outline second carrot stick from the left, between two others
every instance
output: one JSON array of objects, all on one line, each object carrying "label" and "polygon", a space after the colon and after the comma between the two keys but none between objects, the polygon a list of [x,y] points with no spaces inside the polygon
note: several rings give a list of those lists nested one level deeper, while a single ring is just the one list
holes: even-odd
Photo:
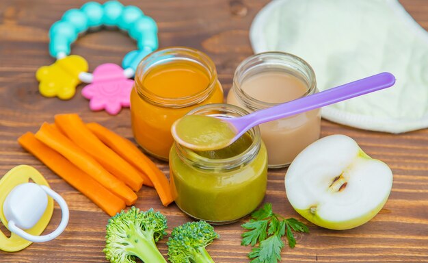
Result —
[{"label": "second carrot stick from the left, between two others", "polygon": [[42,124],[42,127],[36,133],[36,138],[63,155],[83,172],[88,173],[98,183],[113,192],[114,195],[123,199],[126,205],[132,205],[137,201],[137,195],[135,195],[135,192],[131,188],[126,186],[120,179],[111,175],[94,158],[77,147],[66,136],[53,129],[49,123]]}]

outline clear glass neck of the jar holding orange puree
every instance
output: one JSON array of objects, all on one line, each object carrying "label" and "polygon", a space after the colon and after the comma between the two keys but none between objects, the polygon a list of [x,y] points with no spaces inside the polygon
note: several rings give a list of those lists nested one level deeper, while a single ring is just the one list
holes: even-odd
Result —
[{"label": "clear glass neck of the jar holding orange puree", "polygon": [[[206,77],[208,77],[209,84],[204,89],[200,90],[200,92],[186,97],[174,98],[159,96],[144,86],[144,78],[153,68],[174,62],[198,64],[198,66],[202,68],[202,71],[204,71],[204,74],[206,74]],[[206,54],[189,47],[170,47],[159,49],[139,62],[137,70],[135,71],[134,88],[139,97],[154,105],[165,108],[186,108],[204,101],[211,95],[213,90],[215,90],[216,84],[217,71],[215,70],[215,64]]]}]

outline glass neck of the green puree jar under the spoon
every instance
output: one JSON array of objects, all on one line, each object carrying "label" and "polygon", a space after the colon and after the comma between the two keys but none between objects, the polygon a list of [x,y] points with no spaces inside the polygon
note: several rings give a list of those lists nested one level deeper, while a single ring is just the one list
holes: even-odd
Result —
[{"label": "glass neck of the green puree jar under the spoon", "polygon": [[[208,104],[193,109],[187,114],[202,114],[208,116],[236,118],[239,116],[245,116],[248,114],[248,112],[234,105]],[[252,143],[247,149],[243,150],[241,153],[235,156],[224,159],[206,158],[200,155],[198,152],[184,147],[177,142],[175,142],[174,145],[176,147],[176,153],[178,157],[188,166],[207,171],[229,171],[245,166],[246,164],[252,162],[252,160],[256,158],[256,155],[258,155],[261,146],[260,130],[258,127],[256,126],[250,129],[248,131],[248,136],[250,136]]]}]

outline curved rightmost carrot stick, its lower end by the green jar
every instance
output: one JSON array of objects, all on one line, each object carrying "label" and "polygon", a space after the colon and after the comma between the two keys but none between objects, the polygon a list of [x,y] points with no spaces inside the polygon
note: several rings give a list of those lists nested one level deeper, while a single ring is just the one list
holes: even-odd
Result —
[{"label": "curved rightmost carrot stick, its lower end by the green jar", "polygon": [[124,160],[133,164],[139,171],[150,178],[163,205],[168,206],[174,201],[168,178],[165,177],[162,171],[157,168],[156,164],[144,155],[144,153],[139,151],[130,140],[123,138],[98,123],[88,123],[86,126],[103,141],[105,145],[113,149],[113,151],[116,151]]}]

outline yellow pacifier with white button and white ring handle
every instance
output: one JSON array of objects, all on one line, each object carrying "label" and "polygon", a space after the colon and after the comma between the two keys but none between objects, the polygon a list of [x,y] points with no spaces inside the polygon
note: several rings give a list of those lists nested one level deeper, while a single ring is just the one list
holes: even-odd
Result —
[{"label": "yellow pacifier with white button and white ring handle", "polygon": [[[62,209],[62,221],[51,234],[39,236],[51,221],[53,200]],[[11,231],[10,238],[0,231],[0,250],[14,252],[32,242],[52,240],[64,231],[68,217],[64,199],[35,168],[16,166],[0,179],[0,221]]]}]

